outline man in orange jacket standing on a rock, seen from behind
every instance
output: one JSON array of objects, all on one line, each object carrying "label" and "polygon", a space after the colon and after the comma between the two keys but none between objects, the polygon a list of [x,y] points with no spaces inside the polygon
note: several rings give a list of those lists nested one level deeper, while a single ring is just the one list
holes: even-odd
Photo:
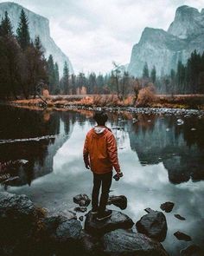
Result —
[{"label": "man in orange jacket standing on a rock, seen from behind", "polygon": [[97,220],[104,220],[112,215],[111,210],[105,209],[112,185],[112,167],[115,168],[118,177],[122,177],[123,173],[118,164],[116,139],[112,131],[105,127],[107,115],[99,111],[94,114],[93,119],[97,122],[97,126],[86,135],[83,155],[86,168],[91,167],[93,174],[92,214],[98,213]]}]

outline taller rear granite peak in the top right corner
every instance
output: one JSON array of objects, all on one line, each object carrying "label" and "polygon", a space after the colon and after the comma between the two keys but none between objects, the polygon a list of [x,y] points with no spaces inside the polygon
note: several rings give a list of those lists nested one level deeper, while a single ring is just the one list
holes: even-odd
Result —
[{"label": "taller rear granite peak in the top right corner", "polygon": [[168,32],[182,39],[203,33],[204,24],[201,12],[187,5],[177,8],[175,20],[170,24]]}]

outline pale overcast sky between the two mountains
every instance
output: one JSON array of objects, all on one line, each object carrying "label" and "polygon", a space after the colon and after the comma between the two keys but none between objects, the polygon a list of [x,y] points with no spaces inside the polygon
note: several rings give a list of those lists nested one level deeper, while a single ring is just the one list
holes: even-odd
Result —
[{"label": "pale overcast sky between the two mountains", "polygon": [[[5,2],[1,1],[0,2]],[[178,6],[199,10],[204,0],[16,0],[48,17],[51,36],[69,56],[75,73],[110,71],[130,62],[145,27],[168,30]]]}]

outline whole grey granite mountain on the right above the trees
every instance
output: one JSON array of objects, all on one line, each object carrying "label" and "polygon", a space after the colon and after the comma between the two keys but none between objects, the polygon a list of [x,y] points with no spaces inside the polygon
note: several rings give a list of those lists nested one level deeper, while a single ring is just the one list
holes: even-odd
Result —
[{"label": "whole grey granite mountain on the right above the trees", "polygon": [[177,8],[175,20],[169,30],[145,28],[139,43],[133,46],[128,71],[131,75],[143,74],[144,63],[149,69],[156,66],[156,74],[169,74],[176,69],[177,62],[187,62],[196,49],[204,51],[204,9],[183,5]]}]

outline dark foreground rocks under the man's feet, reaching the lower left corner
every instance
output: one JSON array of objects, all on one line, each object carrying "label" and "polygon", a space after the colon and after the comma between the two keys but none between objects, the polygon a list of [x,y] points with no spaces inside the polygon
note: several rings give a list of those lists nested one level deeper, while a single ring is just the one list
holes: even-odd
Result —
[{"label": "dark foreground rocks under the man's feet, reaching the lower left corner", "polygon": [[159,242],[133,232],[131,226],[123,213],[113,211],[112,218],[96,221],[90,212],[84,231],[75,213],[48,213],[25,195],[0,193],[1,256],[168,256]]}]

